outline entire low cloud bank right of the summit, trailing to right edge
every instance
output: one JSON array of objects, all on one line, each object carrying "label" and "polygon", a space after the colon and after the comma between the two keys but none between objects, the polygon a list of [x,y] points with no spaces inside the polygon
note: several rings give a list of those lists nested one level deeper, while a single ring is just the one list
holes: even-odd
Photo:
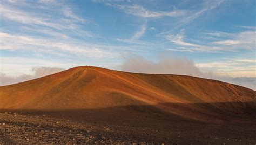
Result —
[{"label": "entire low cloud bank right of the summit, trailing to right edge", "polygon": [[202,72],[191,60],[169,56],[160,56],[159,61],[153,62],[142,57],[129,57],[120,65],[120,70],[136,73],[180,74],[195,77],[220,80],[256,90],[255,77],[220,76],[215,72]]}]

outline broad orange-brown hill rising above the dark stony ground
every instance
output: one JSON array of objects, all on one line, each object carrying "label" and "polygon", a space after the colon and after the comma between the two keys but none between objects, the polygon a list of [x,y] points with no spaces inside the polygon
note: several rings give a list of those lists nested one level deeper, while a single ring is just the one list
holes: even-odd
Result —
[{"label": "broad orange-brown hill rising above the dark stony ground", "polygon": [[0,87],[0,109],[99,109],[152,105],[197,120],[255,115],[255,91],[183,75],[81,66]]}]

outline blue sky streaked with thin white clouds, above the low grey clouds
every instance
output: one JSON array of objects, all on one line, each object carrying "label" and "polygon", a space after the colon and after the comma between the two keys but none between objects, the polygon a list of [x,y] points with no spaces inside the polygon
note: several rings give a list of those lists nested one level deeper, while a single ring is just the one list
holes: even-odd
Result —
[{"label": "blue sky streaked with thin white clouds, above the low grey clouds", "polygon": [[131,57],[159,63],[164,55],[203,73],[256,77],[253,0],[0,4],[1,75],[80,65],[122,70]]}]

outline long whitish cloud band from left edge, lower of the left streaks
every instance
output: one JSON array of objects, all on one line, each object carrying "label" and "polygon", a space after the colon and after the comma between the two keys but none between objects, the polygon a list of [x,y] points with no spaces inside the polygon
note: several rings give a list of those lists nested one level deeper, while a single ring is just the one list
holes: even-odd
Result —
[{"label": "long whitish cloud band from left edge, lower of the left streaks", "polygon": [[[34,52],[46,52],[52,54],[69,52],[77,56],[93,58],[114,57],[115,52],[104,50],[104,46],[87,44],[73,39],[59,40],[48,38],[36,38],[30,36],[19,36],[0,32],[0,45],[2,50],[26,50]],[[15,40],[15,43],[13,43]]]}]

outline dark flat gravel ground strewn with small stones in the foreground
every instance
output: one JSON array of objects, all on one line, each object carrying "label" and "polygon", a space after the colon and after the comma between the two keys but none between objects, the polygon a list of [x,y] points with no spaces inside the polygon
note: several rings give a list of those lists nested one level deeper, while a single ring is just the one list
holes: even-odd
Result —
[{"label": "dark flat gravel ground strewn with small stones in the foreground", "polygon": [[256,144],[255,126],[246,128],[182,121],[175,124],[169,120],[169,125],[165,120],[150,120],[156,122],[151,125],[142,121],[129,124],[130,121],[82,120],[49,114],[2,112],[0,143]]}]

